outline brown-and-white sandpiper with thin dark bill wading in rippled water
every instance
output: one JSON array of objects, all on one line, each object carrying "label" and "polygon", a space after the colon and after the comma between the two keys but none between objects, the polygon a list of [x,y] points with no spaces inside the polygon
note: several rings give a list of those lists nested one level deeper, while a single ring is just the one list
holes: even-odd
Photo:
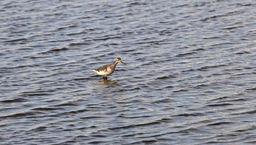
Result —
[{"label": "brown-and-white sandpiper with thin dark bill wading in rippled water", "polygon": [[[118,62],[122,62],[120,57],[116,57],[115,61],[113,63],[106,64],[99,68],[91,69],[91,70],[95,71],[98,75],[103,76],[103,78],[107,78],[107,75],[110,75],[115,71],[115,68],[116,68],[116,65],[118,64]],[[123,64],[125,64],[125,63],[123,63]]]}]

